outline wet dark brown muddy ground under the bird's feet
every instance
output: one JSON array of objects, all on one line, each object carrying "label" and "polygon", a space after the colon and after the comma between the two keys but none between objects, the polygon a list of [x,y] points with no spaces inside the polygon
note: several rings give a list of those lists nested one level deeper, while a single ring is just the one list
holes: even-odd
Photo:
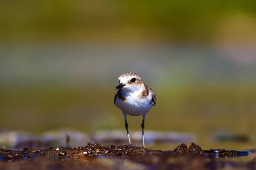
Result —
[{"label": "wet dark brown muddy ground under the bird's feet", "polygon": [[172,151],[150,150],[141,147],[121,145],[103,146],[88,143],[85,147],[49,147],[45,150],[0,149],[0,170],[158,170],[158,169],[256,169],[256,161],[232,161],[238,156],[248,156],[248,152],[236,150],[203,150],[195,143],[181,144]]}]

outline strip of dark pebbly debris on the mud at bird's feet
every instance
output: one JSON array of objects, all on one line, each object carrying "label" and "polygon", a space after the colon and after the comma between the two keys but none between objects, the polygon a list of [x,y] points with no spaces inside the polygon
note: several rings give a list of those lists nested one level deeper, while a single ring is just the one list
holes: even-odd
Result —
[{"label": "strip of dark pebbly debris on the mud at bird's feet", "polygon": [[88,143],[85,147],[49,147],[48,149],[38,150],[24,147],[23,150],[4,150],[0,149],[0,160],[23,160],[35,157],[47,159],[78,159],[82,157],[131,157],[146,154],[168,153],[169,155],[184,155],[189,153],[200,154],[204,156],[246,156],[248,152],[239,152],[236,150],[203,150],[200,146],[192,143],[189,148],[186,144],[181,144],[173,151],[161,151],[143,149],[132,145],[103,146],[100,143]]}]

